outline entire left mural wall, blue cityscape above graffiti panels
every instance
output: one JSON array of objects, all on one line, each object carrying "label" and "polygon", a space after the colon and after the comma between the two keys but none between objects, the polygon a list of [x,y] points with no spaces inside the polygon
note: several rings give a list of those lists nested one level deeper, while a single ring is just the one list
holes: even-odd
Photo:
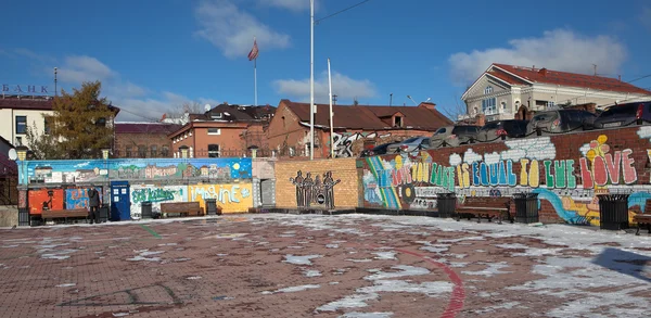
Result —
[{"label": "entire left mural wall, blue cityscape above graffiti panels", "polygon": [[[260,162],[258,166],[256,173],[260,176],[273,176],[272,164]],[[259,190],[252,186],[252,160],[240,157],[26,161],[18,162],[18,168],[23,187],[20,204],[28,206],[30,214],[40,214],[46,203],[50,209],[88,207],[90,186],[97,186],[103,196],[102,188],[107,191],[104,186],[114,180],[131,183],[130,213],[135,219],[140,217],[144,201],[159,209],[162,202],[186,202],[191,198],[202,207],[204,198],[216,198],[225,213],[247,212],[254,206],[253,192]],[[228,192],[226,196],[222,190]]]}]

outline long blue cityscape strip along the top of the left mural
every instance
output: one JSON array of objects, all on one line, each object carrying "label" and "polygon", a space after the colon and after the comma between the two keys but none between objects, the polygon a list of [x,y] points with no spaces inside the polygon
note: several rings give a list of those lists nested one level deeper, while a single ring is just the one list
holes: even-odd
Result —
[{"label": "long blue cityscape strip along the top of the left mural", "polygon": [[20,165],[21,185],[90,183],[111,180],[232,181],[252,178],[251,158],[129,158],[28,161]]}]

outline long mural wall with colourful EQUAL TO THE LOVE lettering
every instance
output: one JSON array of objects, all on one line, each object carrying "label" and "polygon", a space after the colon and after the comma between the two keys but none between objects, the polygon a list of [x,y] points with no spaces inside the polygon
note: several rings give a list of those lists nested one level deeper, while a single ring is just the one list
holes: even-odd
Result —
[{"label": "long mural wall with colourful EQUAL TO THE LOVE lettering", "polygon": [[597,195],[628,193],[629,215],[651,199],[651,127],[513,139],[362,160],[367,207],[435,208],[436,194],[538,193],[541,217],[599,225]]}]

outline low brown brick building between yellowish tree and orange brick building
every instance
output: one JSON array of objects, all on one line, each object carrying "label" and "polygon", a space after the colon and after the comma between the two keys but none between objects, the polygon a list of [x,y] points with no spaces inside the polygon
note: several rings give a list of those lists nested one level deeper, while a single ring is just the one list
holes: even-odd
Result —
[{"label": "low brown brick building between yellowish tree and orange brick building", "polygon": [[167,137],[181,126],[164,123],[115,123],[113,157],[171,157]]}]

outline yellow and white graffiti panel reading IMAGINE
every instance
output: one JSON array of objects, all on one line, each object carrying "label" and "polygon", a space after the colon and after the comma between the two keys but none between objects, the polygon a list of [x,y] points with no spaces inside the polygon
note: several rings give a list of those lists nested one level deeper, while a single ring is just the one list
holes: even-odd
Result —
[{"label": "yellow and white graffiti panel reading IMAGINE", "polygon": [[252,183],[188,186],[188,201],[199,201],[205,211],[206,199],[217,199],[222,213],[246,213],[253,207]]}]

